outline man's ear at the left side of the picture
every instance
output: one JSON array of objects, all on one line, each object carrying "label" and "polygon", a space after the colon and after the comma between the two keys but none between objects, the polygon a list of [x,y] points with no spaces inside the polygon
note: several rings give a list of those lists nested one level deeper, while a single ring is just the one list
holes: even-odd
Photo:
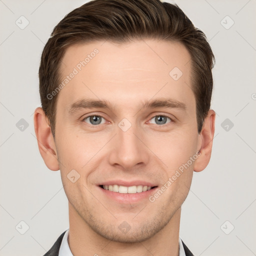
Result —
[{"label": "man's ear at the left side of the picture", "polygon": [[34,110],[34,131],[40,154],[50,170],[58,170],[57,150],[48,118],[41,107]]}]

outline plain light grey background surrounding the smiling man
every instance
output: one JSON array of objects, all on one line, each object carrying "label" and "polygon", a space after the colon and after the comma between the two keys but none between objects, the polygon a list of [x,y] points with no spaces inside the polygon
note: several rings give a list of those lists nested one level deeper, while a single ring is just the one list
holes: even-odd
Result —
[{"label": "plain light grey background surrounding the smiling man", "polygon": [[[33,111],[42,48],[58,21],[84,2],[0,0],[0,255],[42,255],[68,228],[60,173],[39,154]],[[195,255],[256,255],[256,0],[175,2],[204,31],[216,58],[211,161],[194,173],[180,237]],[[15,23],[21,15],[29,21],[24,29]],[[28,123],[23,131],[16,126],[21,118]]]}]

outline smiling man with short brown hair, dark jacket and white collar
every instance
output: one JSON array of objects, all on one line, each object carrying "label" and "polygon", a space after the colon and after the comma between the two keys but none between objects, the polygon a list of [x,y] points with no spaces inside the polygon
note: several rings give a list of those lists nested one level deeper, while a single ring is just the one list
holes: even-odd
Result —
[{"label": "smiling man with short brown hair, dark jacket and white collar", "polygon": [[203,32],[159,0],[94,0],[56,25],[34,126],[69,229],[45,255],[192,255],[180,212],[210,159],[213,64]]}]

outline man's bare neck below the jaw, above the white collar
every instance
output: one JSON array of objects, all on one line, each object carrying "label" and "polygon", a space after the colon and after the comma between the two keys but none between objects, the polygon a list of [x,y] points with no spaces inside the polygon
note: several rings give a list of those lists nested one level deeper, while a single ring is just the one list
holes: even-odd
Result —
[{"label": "man's bare neck below the jaw, above the white collar", "polygon": [[108,240],[92,230],[68,203],[69,234],[68,244],[74,256],[87,255],[166,255],[178,256],[179,222],[181,208],[169,222],[150,238],[135,243],[121,243]]}]

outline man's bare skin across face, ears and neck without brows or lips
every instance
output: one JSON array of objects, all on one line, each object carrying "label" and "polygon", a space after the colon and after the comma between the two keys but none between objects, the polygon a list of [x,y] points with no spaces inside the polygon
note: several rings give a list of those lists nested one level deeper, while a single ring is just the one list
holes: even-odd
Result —
[{"label": "man's bare skin across face, ears and neck without brows or lips", "polygon": [[[190,55],[179,42],[136,40],[125,44],[96,41],[67,48],[63,78],[97,48],[90,59],[57,95],[55,138],[40,107],[34,126],[40,154],[51,170],[60,169],[68,198],[69,247],[78,255],[178,255],[181,205],[193,171],[210,159],[215,113],[209,110],[198,134],[195,97],[191,90]],[[169,72],[182,71],[178,80]],[[113,109],[68,107],[77,100],[108,100]],[[180,108],[141,108],[141,102],[171,98]],[[89,124],[89,115],[103,118]],[[155,117],[165,115],[164,124]],[[127,131],[118,123],[126,118]],[[200,151],[192,164],[154,202],[117,203],[97,184],[110,179],[146,180],[159,188],[180,165]],[[67,178],[75,169],[80,178]],[[126,221],[124,233],[118,225]]]}]

